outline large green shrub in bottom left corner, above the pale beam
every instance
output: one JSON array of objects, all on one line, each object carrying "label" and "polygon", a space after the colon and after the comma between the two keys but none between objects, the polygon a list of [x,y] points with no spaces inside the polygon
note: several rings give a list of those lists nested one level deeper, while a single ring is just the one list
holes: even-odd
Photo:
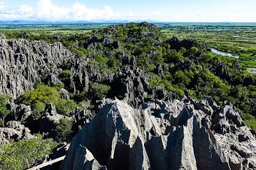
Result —
[{"label": "large green shrub in bottom left corner, above the pale beam", "polygon": [[43,139],[37,136],[33,139],[20,140],[2,145],[0,148],[0,169],[28,169],[51,154],[57,143],[52,139]]}]

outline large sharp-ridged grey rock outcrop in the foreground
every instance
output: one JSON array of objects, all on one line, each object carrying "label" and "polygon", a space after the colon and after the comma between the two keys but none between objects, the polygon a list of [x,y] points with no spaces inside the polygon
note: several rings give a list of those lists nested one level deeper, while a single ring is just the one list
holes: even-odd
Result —
[{"label": "large sharp-ridged grey rock outcrop in the foreground", "polygon": [[73,139],[61,169],[255,169],[255,134],[231,103],[106,105]]}]

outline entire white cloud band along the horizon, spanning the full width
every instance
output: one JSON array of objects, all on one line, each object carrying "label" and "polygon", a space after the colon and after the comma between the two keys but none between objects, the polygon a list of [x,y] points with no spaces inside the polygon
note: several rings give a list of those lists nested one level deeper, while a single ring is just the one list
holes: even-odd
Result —
[{"label": "entire white cloud band along the horizon, spanning the full width", "polygon": [[36,8],[28,4],[12,8],[0,0],[0,20],[47,20],[47,21],[106,21],[106,20],[154,20],[161,22],[256,22],[256,13],[252,14],[220,14],[220,13],[182,13],[164,14],[153,10],[147,15],[136,15],[136,11],[120,13],[111,6],[90,8],[76,1],[69,7],[53,4],[51,0],[39,0]]}]

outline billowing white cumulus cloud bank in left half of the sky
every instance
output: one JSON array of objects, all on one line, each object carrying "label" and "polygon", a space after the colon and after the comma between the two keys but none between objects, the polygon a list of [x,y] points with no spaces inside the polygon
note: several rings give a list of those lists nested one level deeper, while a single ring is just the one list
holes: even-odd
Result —
[{"label": "billowing white cumulus cloud bank in left half of the sky", "polygon": [[0,2],[1,20],[115,20],[120,17],[121,14],[113,11],[110,6],[98,10],[88,8],[78,1],[69,8],[63,8],[52,4],[51,0],[40,0],[36,9],[26,4],[12,9]]}]

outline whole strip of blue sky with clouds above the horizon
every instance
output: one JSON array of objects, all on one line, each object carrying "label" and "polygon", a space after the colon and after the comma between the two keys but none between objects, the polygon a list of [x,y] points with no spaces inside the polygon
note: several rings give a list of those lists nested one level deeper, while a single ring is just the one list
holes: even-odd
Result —
[{"label": "whole strip of blue sky with clouds above the horizon", "polygon": [[0,20],[256,22],[256,1],[0,0]]}]

